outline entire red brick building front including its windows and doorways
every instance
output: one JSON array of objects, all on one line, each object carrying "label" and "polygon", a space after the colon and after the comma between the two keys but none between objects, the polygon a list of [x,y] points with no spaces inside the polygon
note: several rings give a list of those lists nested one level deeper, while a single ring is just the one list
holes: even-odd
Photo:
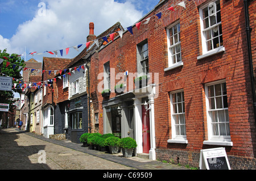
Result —
[{"label": "entire red brick building front including its windows and doorways", "polygon": [[[185,8],[160,1],[139,20],[139,30],[134,25],[133,34],[125,31],[90,57],[99,131],[134,137],[137,152],[150,159],[198,166],[201,149],[224,147],[232,169],[255,169],[243,2],[184,2]],[[253,60],[255,6],[250,1]],[[148,82],[137,89],[134,79],[141,75]],[[114,91],[120,83],[121,94]]]}]

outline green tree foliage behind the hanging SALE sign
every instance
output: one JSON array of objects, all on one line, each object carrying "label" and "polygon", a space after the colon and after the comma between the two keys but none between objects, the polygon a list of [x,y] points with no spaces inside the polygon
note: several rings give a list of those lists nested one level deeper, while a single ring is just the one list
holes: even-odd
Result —
[{"label": "green tree foliage behind the hanging SALE sign", "polygon": [[[6,57],[8,60],[6,60],[4,57]],[[22,81],[22,75],[20,74],[19,66],[22,66],[23,68],[25,67],[26,64],[24,64],[24,60],[20,58],[18,54],[7,53],[6,49],[0,50],[0,58],[4,60],[2,64],[0,64],[0,72],[9,77],[13,77],[13,83],[19,83],[19,81],[16,81],[16,79]],[[7,62],[10,62],[10,65],[6,67]],[[13,64],[16,65],[15,68],[13,67]],[[21,93],[22,89],[13,89],[13,91]],[[0,103],[10,104],[10,111],[13,110],[13,103],[15,102],[15,100],[13,100],[13,91],[0,91]]]}]

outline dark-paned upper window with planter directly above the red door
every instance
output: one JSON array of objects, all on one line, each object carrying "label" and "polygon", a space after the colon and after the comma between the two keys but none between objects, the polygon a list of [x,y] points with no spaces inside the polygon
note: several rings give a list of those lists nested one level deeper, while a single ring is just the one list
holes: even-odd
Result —
[{"label": "dark-paned upper window with planter directly above the red door", "polygon": [[148,74],[148,44],[147,41],[137,45],[137,58],[138,58],[138,73],[139,74]]}]

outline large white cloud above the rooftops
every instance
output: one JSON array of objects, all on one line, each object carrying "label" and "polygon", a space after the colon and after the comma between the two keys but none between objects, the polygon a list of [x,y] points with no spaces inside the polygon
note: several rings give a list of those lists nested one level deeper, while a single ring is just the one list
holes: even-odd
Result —
[{"label": "large white cloud above the rooftops", "polygon": [[[138,11],[130,1],[45,0],[44,3],[47,7],[45,15],[39,16],[35,12],[32,20],[19,24],[10,40],[0,35],[0,49],[7,48],[9,53],[18,54],[24,52],[25,46],[27,52],[59,50],[85,43],[89,22],[94,22],[94,34],[100,35],[116,22],[121,22],[123,28],[126,28],[142,18],[142,11]],[[69,58],[77,54],[76,50],[70,52]],[[44,53],[43,56],[51,55]]]}]

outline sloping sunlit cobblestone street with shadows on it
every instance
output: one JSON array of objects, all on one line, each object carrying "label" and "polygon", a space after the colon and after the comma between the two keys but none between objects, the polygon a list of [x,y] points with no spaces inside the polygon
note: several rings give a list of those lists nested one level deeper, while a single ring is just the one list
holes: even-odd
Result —
[{"label": "sloping sunlit cobblestone street with shadows on it", "polygon": [[[46,157],[43,157],[44,154]],[[52,140],[35,133],[19,131],[17,128],[0,129],[0,170],[5,169],[187,170],[146,158],[124,158],[121,154],[90,150],[82,147],[82,144]]]}]

